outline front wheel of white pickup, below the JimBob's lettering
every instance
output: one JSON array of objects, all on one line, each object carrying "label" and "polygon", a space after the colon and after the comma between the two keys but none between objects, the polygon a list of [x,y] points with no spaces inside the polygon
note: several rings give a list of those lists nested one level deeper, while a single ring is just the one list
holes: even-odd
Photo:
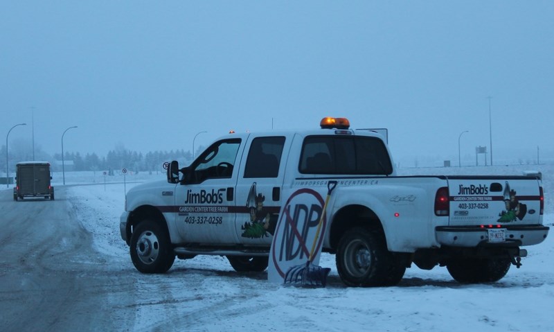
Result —
[{"label": "front wheel of white pickup, below the JimBob's lettering", "polygon": [[142,273],[165,273],[175,261],[168,232],[152,220],[133,229],[129,250],[134,267]]}]

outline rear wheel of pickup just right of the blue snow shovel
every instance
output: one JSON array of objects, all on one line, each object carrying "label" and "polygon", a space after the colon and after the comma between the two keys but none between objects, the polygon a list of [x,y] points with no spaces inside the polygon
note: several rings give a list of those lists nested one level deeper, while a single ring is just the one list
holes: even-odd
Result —
[{"label": "rear wheel of pickup just right of the blue snow shovel", "polygon": [[339,276],[346,286],[372,287],[395,284],[402,279],[397,271],[395,277],[387,280],[391,256],[381,234],[356,227],[342,236],[335,259]]}]

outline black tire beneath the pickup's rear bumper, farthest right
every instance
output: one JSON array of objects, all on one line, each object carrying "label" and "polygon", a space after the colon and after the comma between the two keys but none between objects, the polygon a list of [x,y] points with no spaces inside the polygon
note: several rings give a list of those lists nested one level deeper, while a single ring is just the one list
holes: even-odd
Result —
[{"label": "black tire beneath the pickup's rear bumper, farthest right", "polygon": [[510,265],[510,259],[455,259],[447,270],[459,283],[488,283],[502,279]]}]

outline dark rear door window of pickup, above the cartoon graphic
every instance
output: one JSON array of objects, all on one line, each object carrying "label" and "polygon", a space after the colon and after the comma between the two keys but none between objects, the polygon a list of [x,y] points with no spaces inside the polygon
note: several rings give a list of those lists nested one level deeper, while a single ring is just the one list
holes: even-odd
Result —
[{"label": "dark rear door window of pickup, above the cartoon graphic", "polygon": [[248,152],[244,177],[277,177],[285,137],[256,137]]}]

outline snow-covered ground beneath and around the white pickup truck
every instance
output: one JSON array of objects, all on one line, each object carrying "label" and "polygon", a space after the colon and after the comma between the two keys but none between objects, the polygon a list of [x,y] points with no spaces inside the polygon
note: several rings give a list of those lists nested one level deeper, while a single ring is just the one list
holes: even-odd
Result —
[{"label": "snow-covered ground beneath and around the white pickup truck", "polygon": [[[543,173],[544,223],[552,226],[554,183],[549,177],[554,166],[413,168],[400,175],[514,175],[531,169]],[[107,264],[134,273],[118,229],[124,193],[136,182],[163,176],[127,175],[123,184],[123,175],[115,175],[106,177],[104,184],[98,174],[66,173],[68,185],[93,183],[68,186],[67,196]],[[61,178],[54,177],[54,182]],[[159,302],[136,304],[136,320],[129,330],[163,329],[166,317],[177,315],[181,318],[172,319],[172,327],[186,331],[547,331],[554,326],[554,243],[547,238],[527,249],[524,265],[512,266],[497,283],[460,285],[445,268],[425,271],[414,266],[391,288],[345,288],[334,256],[325,254],[320,265],[332,271],[328,287],[320,289],[278,286],[267,282],[265,273],[240,275],[219,256],[177,260],[168,274],[139,274],[137,293],[171,288],[171,296],[166,291],[168,298]]]}]

